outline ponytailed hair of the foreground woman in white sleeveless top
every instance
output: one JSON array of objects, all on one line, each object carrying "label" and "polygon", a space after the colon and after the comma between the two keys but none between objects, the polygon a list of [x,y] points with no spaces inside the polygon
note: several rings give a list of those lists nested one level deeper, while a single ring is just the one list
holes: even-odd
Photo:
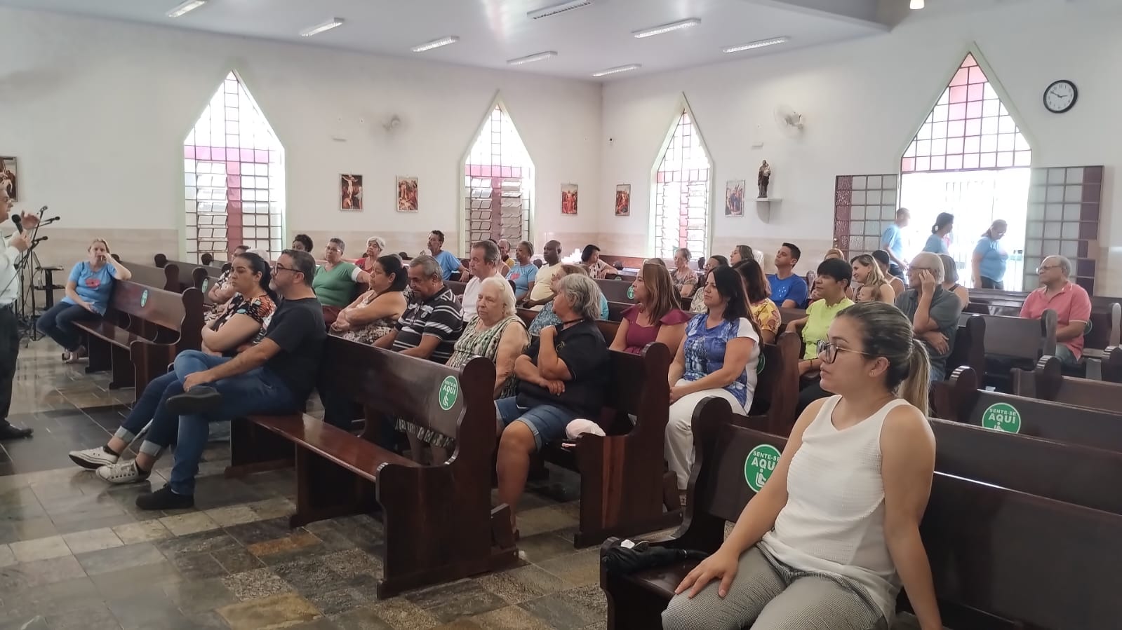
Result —
[{"label": "ponytailed hair of the foreground woman in white sleeveless top", "polygon": [[923,343],[912,333],[908,316],[883,302],[859,302],[837,316],[849,317],[857,324],[866,356],[883,356],[889,362],[884,387],[926,416],[930,360]]}]

